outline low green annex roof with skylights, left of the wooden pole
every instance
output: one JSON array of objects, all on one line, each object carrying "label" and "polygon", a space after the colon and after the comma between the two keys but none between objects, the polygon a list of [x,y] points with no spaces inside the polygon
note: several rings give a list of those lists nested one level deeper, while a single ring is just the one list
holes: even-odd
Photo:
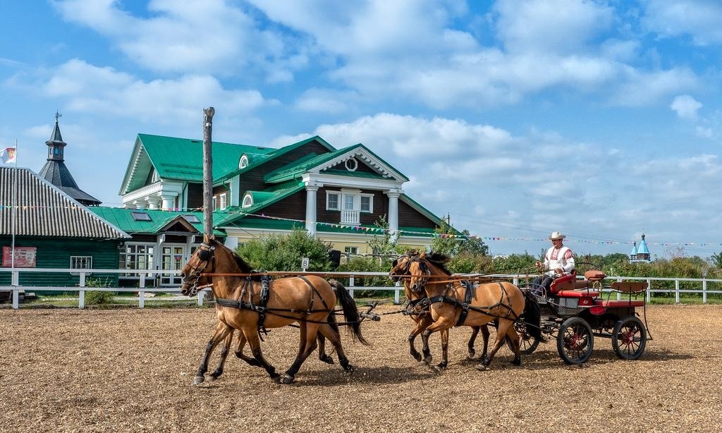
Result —
[{"label": "low green annex roof with skylights, left of the wooden pole", "polygon": [[[125,209],[125,208],[113,208],[103,206],[89,206],[88,210],[95,213],[97,216],[105,219],[106,221],[114,224],[116,227],[123,230],[123,232],[130,234],[150,234],[156,235],[160,232],[160,229],[165,227],[166,224],[183,215],[194,215],[199,219],[199,222],[191,224],[199,234],[203,233],[203,212],[183,212],[183,211],[162,211],[160,209]],[[151,221],[136,221],[133,218],[132,213],[143,213],[150,216]],[[222,215],[214,212],[213,220],[221,220]],[[215,225],[215,224],[214,224]],[[225,232],[214,229],[213,234],[216,236],[224,236]]]}]

